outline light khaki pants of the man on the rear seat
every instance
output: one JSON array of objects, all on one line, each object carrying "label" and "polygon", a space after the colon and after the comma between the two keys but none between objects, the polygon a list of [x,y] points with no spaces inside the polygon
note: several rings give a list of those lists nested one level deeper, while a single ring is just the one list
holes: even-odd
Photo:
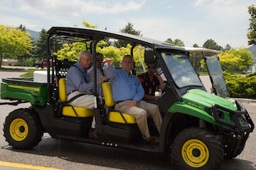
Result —
[{"label": "light khaki pants of the man on the rear seat", "polygon": [[[76,95],[82,94],[82,92],[75,91],[67,96],[67,101],[75,97]],[[75,107],[79,108],[86,108],[88,110],[92,110],[94,108],[94,95],[82,95],[78,97],[77,99],[74,99],[69,103],[70,105],[73,105]],[[92,128],[95,128],[96,121],[95,116],[92,120]]]}]

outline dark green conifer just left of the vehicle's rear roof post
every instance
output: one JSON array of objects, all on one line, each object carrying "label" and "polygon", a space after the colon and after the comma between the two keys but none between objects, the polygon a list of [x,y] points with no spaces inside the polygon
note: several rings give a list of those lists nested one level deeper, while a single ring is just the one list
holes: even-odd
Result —
[{"label": "dark green conifer just left of the vehicle's rear roof post", "polygon": [[39,33],[39,39],[36,41],[35,43],[35,49],[32,52],[34,54],[35,58],[38,59],[44,59],[47,56],[47,44],[46,44],[46,40],[47,40],[47,32],[46,30],[44,30],[44,28],[42,28],[41,32]]}]

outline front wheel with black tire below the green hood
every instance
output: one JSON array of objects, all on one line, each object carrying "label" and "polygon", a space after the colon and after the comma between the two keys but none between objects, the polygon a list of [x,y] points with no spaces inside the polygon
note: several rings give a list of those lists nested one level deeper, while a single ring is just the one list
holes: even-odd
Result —
[{"label": "front wheel with black tire below the green hood", "polygon": [[216,135],[192,127],[183,130],[174,139],[172,157],[179,169],[218,169],[224,151]]}]

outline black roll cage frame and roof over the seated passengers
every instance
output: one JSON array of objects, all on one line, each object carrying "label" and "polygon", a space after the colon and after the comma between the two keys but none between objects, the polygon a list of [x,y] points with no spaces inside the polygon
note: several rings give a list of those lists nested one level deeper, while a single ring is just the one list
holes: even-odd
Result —
[{"label": "black roll cage frame and roof over the seated passengers", "polygon": [[[152,48],[154,50],[155,56],[156,56],[156,60],[157,62],[160,64],[161,68],[163,69],[166,78],[168,80],[168,85],[171,87],[171,89],[174,91],[175,93],[175,98],[177,99],[177,101],[183,101],[181,98],[181,95],[183,95],[184,93],[187,92],[187,90],[194,88],[194,87],[185,87],[185,88],[178,88],[170,73],[168,72],[168,68],[163,60],[163,58],[161,57],[160,54],[160,50],[165,50],[165,51],[175,51],[175,52],[181,52],[181,53],[185,53],[189,56],[189,52],[187,50],[185,50],[185,48],[180,47],[180,46],[175,46],[173,44],[169,44],[166,42],[160,42],[157,40],[151,40],[148,38],[143,38],[141,36],[135,36],[132,34],[125,34],[125,33],[121,33],[121,32],[110,32],[107,30],[98,30],[95,28],[77,28],[77,27],[53,27],[48,31],[48,38],[47,38],[47,71],[48,71],[48,75],[50,75],[50,64],[49,64],[49,60],[52,58],[53,59],[53,68],[52,68],[52,75],[54,74],[54,70],[56,68],[56,60],[57,58],[53,56],[53,39],[59,39],[59,40],[73,40],[72,38],[83,38],[84,40],[73,40],[74,42],[90,42],[90,46],[86,46],[86,50],[90,50],[90,52],[92,53],[92,57],[93,57],[93,65],[96,65],[96,44],[100,41],[103,40],[104,38],[112,38],[112,39],[117,39],[117,40],[125,40],[127,42],[131,42],[131,56],[133,56],[133,49],[135,48],[135,46],[137,45],[141,45],[144,46],[146,48]],[[133,67],[132,70],[133,74],[135,75],[135,66]],[[51,77],[48,76],[48,83],[47,86],[49,88],[48,91],[48,96],[49,96],[49,103],[53,103],[53,89],[55,88],[53,83],[56,81],[54,76]],[[197,87],[195,87],[197,88]],[[204,87],[202,87],[201,89],[205,90]],[[55,88],[56,90],[56,88]],[[94,67],[94,96],[96,97],[97,101],[98,101],[98,95],[96,94],[96,67]]]}]

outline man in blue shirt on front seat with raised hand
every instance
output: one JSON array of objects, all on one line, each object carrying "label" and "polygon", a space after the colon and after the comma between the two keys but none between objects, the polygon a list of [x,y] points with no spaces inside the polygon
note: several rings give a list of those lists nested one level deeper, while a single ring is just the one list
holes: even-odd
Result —
[{"label": "man in blue shirt on front seat with raised hand", "polygon": [[[106,58],[104,62],[108,62]],[[130,73],[133,67],[133,57],[126,55],[122,60],[122,69],[113,68],[112,74],[108,74],[113,91],[113,99],[116,102],[115,110],[124,114],[130,114],[136,119],[142,138],[151,143],[158,143],[157,136],[150,136],[148,128],[148,117],[153,118],[154,124],[160,133],[162,117],[158,106],[146,101],[141,101],[144,96],[143,87],[135,75]],[[112,65],[113,62],[108,62]]]}]

